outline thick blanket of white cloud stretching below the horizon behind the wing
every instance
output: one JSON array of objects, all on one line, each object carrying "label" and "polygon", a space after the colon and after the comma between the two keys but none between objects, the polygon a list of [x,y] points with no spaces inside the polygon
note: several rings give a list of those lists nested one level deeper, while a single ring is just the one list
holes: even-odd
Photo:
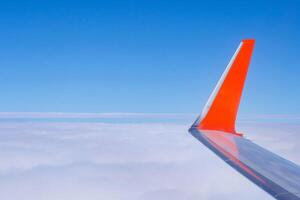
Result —
[{"label": "thick blanket of white cloud stretching below the horizon behind the wing", "polygon": [[[2,122],[0,196],[7,200],[272,199],[189,135],[188,126]],[[240,125],[257,143],[299,161],[294,150],[299,148],[295,138],[300,127],[278,126],[277,132],[274,126],[263,127]],[[281,143],[286,132],[291,139]]]}]

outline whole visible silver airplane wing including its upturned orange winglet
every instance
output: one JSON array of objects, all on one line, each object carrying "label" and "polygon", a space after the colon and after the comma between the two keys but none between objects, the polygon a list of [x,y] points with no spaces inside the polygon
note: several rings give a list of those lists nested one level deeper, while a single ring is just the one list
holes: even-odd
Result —
[{"label": "whole visible silver airplane wing including its upturned orange winglet", "polygon": [[278,200],[300,200],[300,166],[246,139],[235,121],[255,41],[243,40],[189,132]]}]

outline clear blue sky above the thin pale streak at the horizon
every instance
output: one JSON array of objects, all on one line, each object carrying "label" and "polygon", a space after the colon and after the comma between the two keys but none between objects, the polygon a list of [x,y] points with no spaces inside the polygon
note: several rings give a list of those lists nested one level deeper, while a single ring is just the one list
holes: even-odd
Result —
[{"label": "clear blue sky above the thin pale streak at the horizon", "polygon": [[300,4],[2,1],[1,112],[200,112],[255,38],[241,114],[300,113]]}]

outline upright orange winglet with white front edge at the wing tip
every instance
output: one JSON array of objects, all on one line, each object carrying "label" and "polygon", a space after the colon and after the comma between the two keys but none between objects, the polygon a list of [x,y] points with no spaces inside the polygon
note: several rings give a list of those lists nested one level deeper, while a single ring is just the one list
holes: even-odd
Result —
[{"label": "upright orange winglet with white front edge at the wing tip", "polygon": [[235,121],[255,40],[243,40],[210,96],[197,127],[236,133]]}]

